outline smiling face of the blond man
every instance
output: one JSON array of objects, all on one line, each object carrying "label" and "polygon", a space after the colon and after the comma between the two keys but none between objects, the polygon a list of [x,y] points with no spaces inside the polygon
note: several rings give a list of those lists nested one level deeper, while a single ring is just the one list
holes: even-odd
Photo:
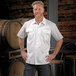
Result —
[{"label": "smiling face of the blond man", "polygon": [[44,8],[40,4],[35,4],[33,6],[33,13],[36,18],[43,16]]}]

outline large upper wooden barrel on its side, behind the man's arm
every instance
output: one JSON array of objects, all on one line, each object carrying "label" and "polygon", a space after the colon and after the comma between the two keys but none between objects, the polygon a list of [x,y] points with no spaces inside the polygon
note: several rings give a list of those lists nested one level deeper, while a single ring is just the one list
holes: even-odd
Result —
[{"label": "large upper wooden barrel on its side, behind the man's arm", "polygon": [[0,20],[0,44],[3,48],[7,45],[13,49],[19,48],[17,33],[21,26],[16,20]]}]

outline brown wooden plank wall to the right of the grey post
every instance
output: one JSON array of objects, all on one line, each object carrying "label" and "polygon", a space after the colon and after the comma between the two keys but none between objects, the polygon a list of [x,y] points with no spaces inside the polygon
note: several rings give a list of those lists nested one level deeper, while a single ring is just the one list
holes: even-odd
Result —
[{"label": "brown wooden plank wall to the right of the grey post", "polygon": [[76,0],[58,0],[58,27],[64,42],[76,42]]}]

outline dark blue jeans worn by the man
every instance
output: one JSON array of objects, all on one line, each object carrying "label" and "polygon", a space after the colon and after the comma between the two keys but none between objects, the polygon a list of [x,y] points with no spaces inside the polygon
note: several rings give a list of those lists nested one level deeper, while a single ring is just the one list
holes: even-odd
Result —
[{"label": "dark blue jeans worn by the man", "polygon": [[24,76],[35,76],[35,73],[38,73],[38,76],[50,76],[50,65],[31,65],[25,64],[24,67]]}]

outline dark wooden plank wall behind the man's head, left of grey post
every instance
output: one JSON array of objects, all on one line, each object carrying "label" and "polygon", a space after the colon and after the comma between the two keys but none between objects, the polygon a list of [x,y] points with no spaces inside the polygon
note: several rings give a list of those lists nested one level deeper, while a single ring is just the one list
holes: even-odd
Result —
[{"label": "dark wooden plank wall behind the man's head, left of grey post", "polygon": [[[9,0],[9,18],[33,18],[33,11],[31,4],[34,0]],[[45,4],[45,17],[47,17],[47,2]]]}]

